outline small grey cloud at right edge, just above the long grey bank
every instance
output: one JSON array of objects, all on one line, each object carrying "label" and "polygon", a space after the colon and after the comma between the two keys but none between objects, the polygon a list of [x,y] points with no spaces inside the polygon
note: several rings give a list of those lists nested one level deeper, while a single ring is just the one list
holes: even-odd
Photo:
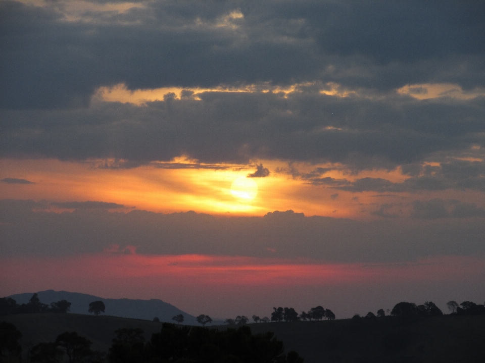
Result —
[{"label": "small grey cloud at right edge, just above the long grey bank", "polygon": [[417,219],[485,217],[485,209],[456,199],[415,200],[412,208],[411,216]]}]

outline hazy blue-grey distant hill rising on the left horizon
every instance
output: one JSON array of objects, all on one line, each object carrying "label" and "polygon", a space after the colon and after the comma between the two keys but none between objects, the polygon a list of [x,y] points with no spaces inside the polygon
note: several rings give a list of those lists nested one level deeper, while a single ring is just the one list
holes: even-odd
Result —
[{"label": "hazy blue-grey distant hill rising on the left horizon", "polygon": [[[106,315],[121,318],[153,320],[158,317],[161,322],[173,323],[172,318],[182,314],[185,318],[185,325],[199,325],[196,317],[183,312],[177,307],[164,302],[160,299],[138,300],[138,299],[104,299],[99,296],[81,294],[79,292],[46,290],[37,292],[39,299],[44,304],[53,301],[67,300],[72,303],[71,313],[88,315],[88,306],[92,301],[103,301],[106,306]],[[18,304],[27,303],[32,297],[33,292],[11,295],[9,297],[17,301]],[[216,322],[214,322],[216,323]],[[219,322],[221,323],[221,322]]]}]

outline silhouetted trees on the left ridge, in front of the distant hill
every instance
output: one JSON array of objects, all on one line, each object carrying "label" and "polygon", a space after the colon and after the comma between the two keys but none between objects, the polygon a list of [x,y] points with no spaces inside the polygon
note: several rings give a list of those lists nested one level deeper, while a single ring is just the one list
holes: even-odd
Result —
[{"label": "silhouetted trees on the left ridge, in front of the distant hill", "polygon": [[[71,303],[67,300],[51,302],[50,305],[40,302],[37,293],[34,293],[28,303],[18,304],[11,297],[0,298],[0,316],[10,314],[36,314],[36,313],[69,313]],[[104,313],[106,306],[103,301],[89,303],[88,312],[94,315]]]}]

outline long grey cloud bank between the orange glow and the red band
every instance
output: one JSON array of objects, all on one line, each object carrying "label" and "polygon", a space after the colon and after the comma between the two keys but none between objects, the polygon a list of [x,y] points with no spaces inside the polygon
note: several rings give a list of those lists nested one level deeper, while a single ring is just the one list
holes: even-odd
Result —
[{"label": "long grey cloud bank between the orange glow and the red band", "polygon": [[[426,204],[422,205],[416,203],[415,213],[428,218]],[[462,207],[456,204],[451,213],[460,213],[457,209]],[[469,207],[465,205],[468,211]],[[485,252],[482,219],[359,222],[305,217],[292,211],[216,218],[195,212],[125,214],[87,209],[57,214],[42,208],[45,203],[32,200],[0,201],[1,255],[95,253],[114,244],[120,250],[136,246],[137,253],[308,257],[334,262],[399,262]]]}]

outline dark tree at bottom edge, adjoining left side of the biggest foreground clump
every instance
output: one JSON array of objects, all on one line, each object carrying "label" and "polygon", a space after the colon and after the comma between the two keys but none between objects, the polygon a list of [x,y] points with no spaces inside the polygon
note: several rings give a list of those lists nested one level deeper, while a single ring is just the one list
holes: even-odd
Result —
[{"label": "dark tree at bottom edge, adjoining left side of the biggest foreground clump", "polygon": [[124,328],[115,330],[116,338],[109,350],[110,363],[141,363],[144,361],[145,337],[143,330]]}]

